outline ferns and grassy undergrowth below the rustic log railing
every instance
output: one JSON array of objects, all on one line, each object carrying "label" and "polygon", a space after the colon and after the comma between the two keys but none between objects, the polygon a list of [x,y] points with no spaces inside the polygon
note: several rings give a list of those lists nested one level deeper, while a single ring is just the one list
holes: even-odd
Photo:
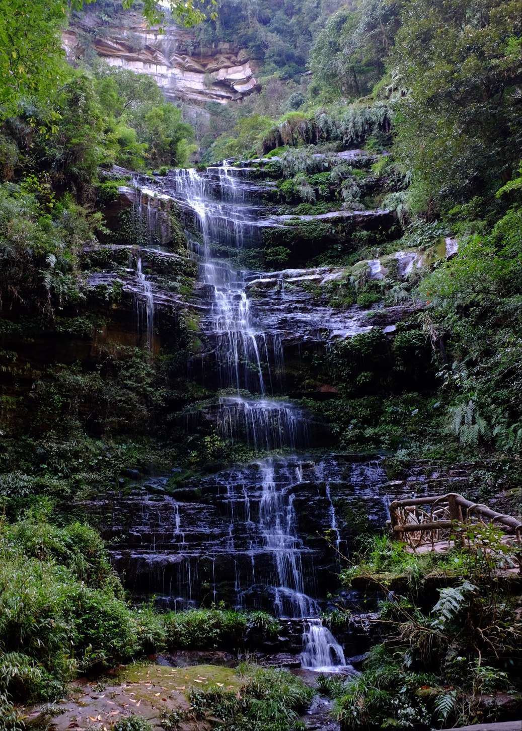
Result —
[{"label": "ferns and grassy undergrowth below the rustic log railing", "polygon": [[[461,546],[448,553],[405,548],[385,537],[366,539],[343,572],[345,586],[363,580],[393,591],[380,605],[381,642],[363,672],[320,681],[336,699],[342,727],[473,724],[495,713],[497,692],[514,696],[516,713],[519,597],[497,578],[515,551],[492,526],[464,531]],[[437,588],[441,583],[449,586]]]}]

